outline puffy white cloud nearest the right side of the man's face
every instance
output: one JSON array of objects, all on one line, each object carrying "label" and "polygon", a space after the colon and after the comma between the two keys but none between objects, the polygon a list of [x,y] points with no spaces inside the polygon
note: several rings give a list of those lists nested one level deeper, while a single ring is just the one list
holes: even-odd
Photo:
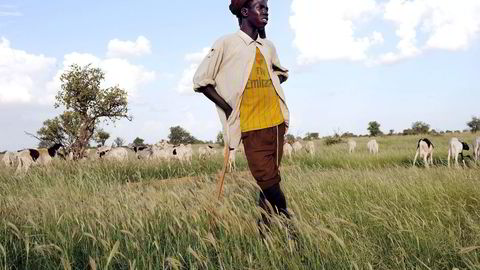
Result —
[{"label": "puffy white cloud nearest the right side of the man's face", "polygon": [[293,0],[290,25],[300,51],[298,63],[366,59],[367,50],[383,37],[379,32],[357,37],[355,24],[377,10],[374,0]]}]

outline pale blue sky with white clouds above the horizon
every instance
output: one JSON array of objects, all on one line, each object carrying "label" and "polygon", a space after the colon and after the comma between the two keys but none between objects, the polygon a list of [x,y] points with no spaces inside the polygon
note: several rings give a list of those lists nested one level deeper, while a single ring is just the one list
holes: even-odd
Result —
[{"label": "pale blue sky with white clouds above the horizon", "polygon": [[[267,35],[290,77],[289,132],[396,132],[423,121],[463,130],[480,116],[480,0],[269,1]],[[100,67],[129,95],[133,120],[103,127],[126,142],[180,125],[214,140],[214,105],[193,93],[210,46],[236,32],[228,0],[0,0],[0,151],[35,147],[73,64]]]}]

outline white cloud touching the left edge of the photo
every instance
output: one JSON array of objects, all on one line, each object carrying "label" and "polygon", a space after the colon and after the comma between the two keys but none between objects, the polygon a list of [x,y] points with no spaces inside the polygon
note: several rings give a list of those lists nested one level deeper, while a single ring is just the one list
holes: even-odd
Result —
[{"label": "white cloud touching the left edge of the photo", "polygon": [[14,49],[0,41],[0,103],[31,102],[55,65],[55,58]]}]

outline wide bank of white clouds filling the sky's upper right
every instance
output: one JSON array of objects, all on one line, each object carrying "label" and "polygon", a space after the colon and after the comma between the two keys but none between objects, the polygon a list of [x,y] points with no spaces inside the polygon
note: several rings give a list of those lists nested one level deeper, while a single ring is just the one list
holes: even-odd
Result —
[{"label": "wide bank of white clouds filling the sky's upper right", "polygon": [[[293,0],[292,12],[299,64],[336,59],[389,64],[429,49],[466,49],[480,32],[478,0]],[[368,19],[377,20],[368,25]],[[358,26],[372,27],[378,20],[393,23],[398,41],[395,49],[372,55],[369,50],[384,44],[386,35],[362,36]]]}]

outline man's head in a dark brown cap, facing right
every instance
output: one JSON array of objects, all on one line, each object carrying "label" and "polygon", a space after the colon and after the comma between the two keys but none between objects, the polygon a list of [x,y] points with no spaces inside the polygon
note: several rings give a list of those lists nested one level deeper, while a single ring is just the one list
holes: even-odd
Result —
[{"label": "man's head in a dark brown cap, facing right", "polygon": [[265,26],[268,23],[268,0],[231,0],[230,11],[237,16],[240,26],[248,23],[258,29],[261,38],[265,38]]}]

